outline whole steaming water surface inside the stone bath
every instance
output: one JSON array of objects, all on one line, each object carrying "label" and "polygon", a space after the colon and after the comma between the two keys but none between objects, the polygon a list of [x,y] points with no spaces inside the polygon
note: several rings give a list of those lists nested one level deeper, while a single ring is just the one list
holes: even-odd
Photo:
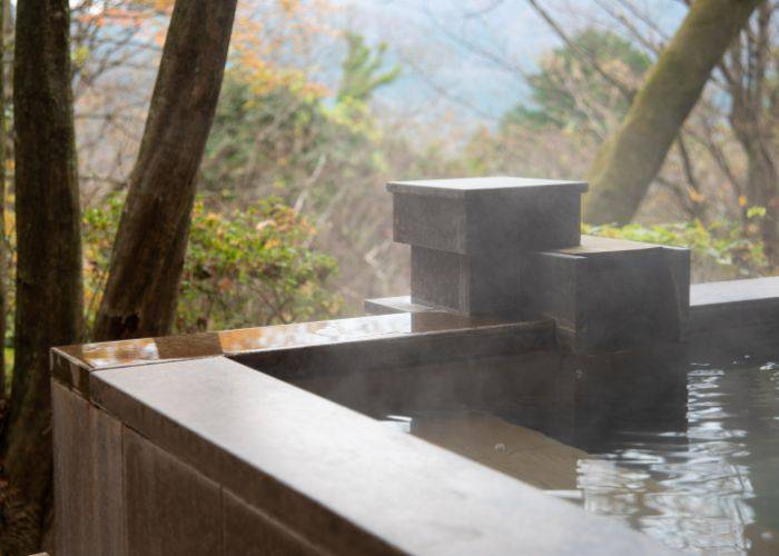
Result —
[{"label": "whole steaming water surface inside the stone bath", "polygon": [[727,344],[292,381],[687,553],[779,555],[779,346]]}]

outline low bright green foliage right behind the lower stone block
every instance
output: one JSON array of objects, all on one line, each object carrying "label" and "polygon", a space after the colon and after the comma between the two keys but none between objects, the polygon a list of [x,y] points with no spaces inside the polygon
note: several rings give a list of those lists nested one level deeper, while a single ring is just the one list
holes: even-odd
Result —
[{"label": "low bright green foliage right behind the lower stone block", "polygon": [[768,270],[761,241],[745,236],[739,224],[721,220],[642,226],[582,226],[584,234],[669,246],[689,247],[693,267],[709,269],[718,279],[760,276]]}]

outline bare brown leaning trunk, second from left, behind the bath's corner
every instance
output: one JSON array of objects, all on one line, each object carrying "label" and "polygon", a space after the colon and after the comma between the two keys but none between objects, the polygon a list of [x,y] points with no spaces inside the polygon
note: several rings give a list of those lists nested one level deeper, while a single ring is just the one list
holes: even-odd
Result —
[{"label": "bare brown leaning trunk, second from left, behind the bath's corner", "polygon": [[170,331],[235,8],[236,0],[176,1],[95,324],[97,340]]}]

